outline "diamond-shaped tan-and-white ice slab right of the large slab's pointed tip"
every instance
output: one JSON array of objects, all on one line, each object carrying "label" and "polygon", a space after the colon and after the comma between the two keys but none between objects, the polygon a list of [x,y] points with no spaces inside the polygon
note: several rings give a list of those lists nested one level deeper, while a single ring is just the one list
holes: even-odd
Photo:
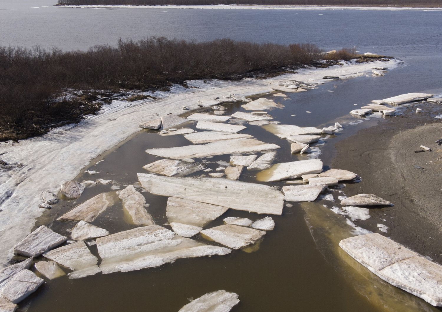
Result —
[{"label": "diamond-shaped tan-and-white ice slab right of the large slab's pointed tip", "polygon": [[206,237],[209,237],[211,240],[232,249],[240,249],[250,244],[254,244],[266,234],[266,232],[258,229],[230,224],[203,229],[201,233]]}]

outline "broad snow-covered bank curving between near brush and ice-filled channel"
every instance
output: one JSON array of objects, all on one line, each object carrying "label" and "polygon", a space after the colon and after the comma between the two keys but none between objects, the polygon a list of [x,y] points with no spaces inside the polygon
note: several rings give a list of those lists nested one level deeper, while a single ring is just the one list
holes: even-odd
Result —
[{"label": "broad snow-covered bank curving between near brush and ice-filled channel", "polygon": [[[389,62],[389,69],[396,64]],[[271,84],[279,81],[324,83],[324,76],[357,77],[361,72],[372,71],[373,65],[307,68],[268,79],[189,81],[189,86],[198,88],[174,86],[170,92],[156,92],[155,100],[113,101],[103,106],[99,114],[79,124],[53,129],[18,143],[1,143],[1,159],[11,165],[11,169],[0,172],[0,264],[6,264],[12,256],[12,246],[30,232],[34,218],[42,214],[43,210],[38,207],[40,193],[57,193],[61,183],[74,179],[92,159],[139,131],[140,122],[168,113],[178,115],[183,113],[183,106],[196,109],[198,104],[215,105],[232,95],[268,93],[272,91]]]}]

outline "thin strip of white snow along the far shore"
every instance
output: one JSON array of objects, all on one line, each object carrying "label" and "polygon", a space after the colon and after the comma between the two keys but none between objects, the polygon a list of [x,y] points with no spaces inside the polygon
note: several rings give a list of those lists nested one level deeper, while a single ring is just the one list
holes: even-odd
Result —
[{"label": "thin strip of white snow along the far shore", "polygon": [[127,5],[127,4],[84,4],[84,5],[57,5],[58,8],[146,8],[146,9],[231,9],[231,10],[370,10],[370,11],[442,11],[436,7],[400,7],[400,6],[320,6],[320,5]]}]

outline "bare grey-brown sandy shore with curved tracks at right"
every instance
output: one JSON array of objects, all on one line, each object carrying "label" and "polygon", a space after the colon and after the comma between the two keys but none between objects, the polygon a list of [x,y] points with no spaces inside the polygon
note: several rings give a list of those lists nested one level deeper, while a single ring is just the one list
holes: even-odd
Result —
[{"label": "bare grey-brown sandy shore with curved tracks at right", "polygon": [[[431,114],[437,106],[419,105],[424,113],[411,106],[401,117],[381,120],[336,143],[332,166],[362,177],[347,184],[347,196],[373,193],[394,203],[371,209],[371,218],[358,221],[359,226],[377,231],[378,223],[385,224],[386,236],[442,263],[442,147],[434,143],[442,137],[442,120]],[[415,153],[420,145],[434,151]]]}]

